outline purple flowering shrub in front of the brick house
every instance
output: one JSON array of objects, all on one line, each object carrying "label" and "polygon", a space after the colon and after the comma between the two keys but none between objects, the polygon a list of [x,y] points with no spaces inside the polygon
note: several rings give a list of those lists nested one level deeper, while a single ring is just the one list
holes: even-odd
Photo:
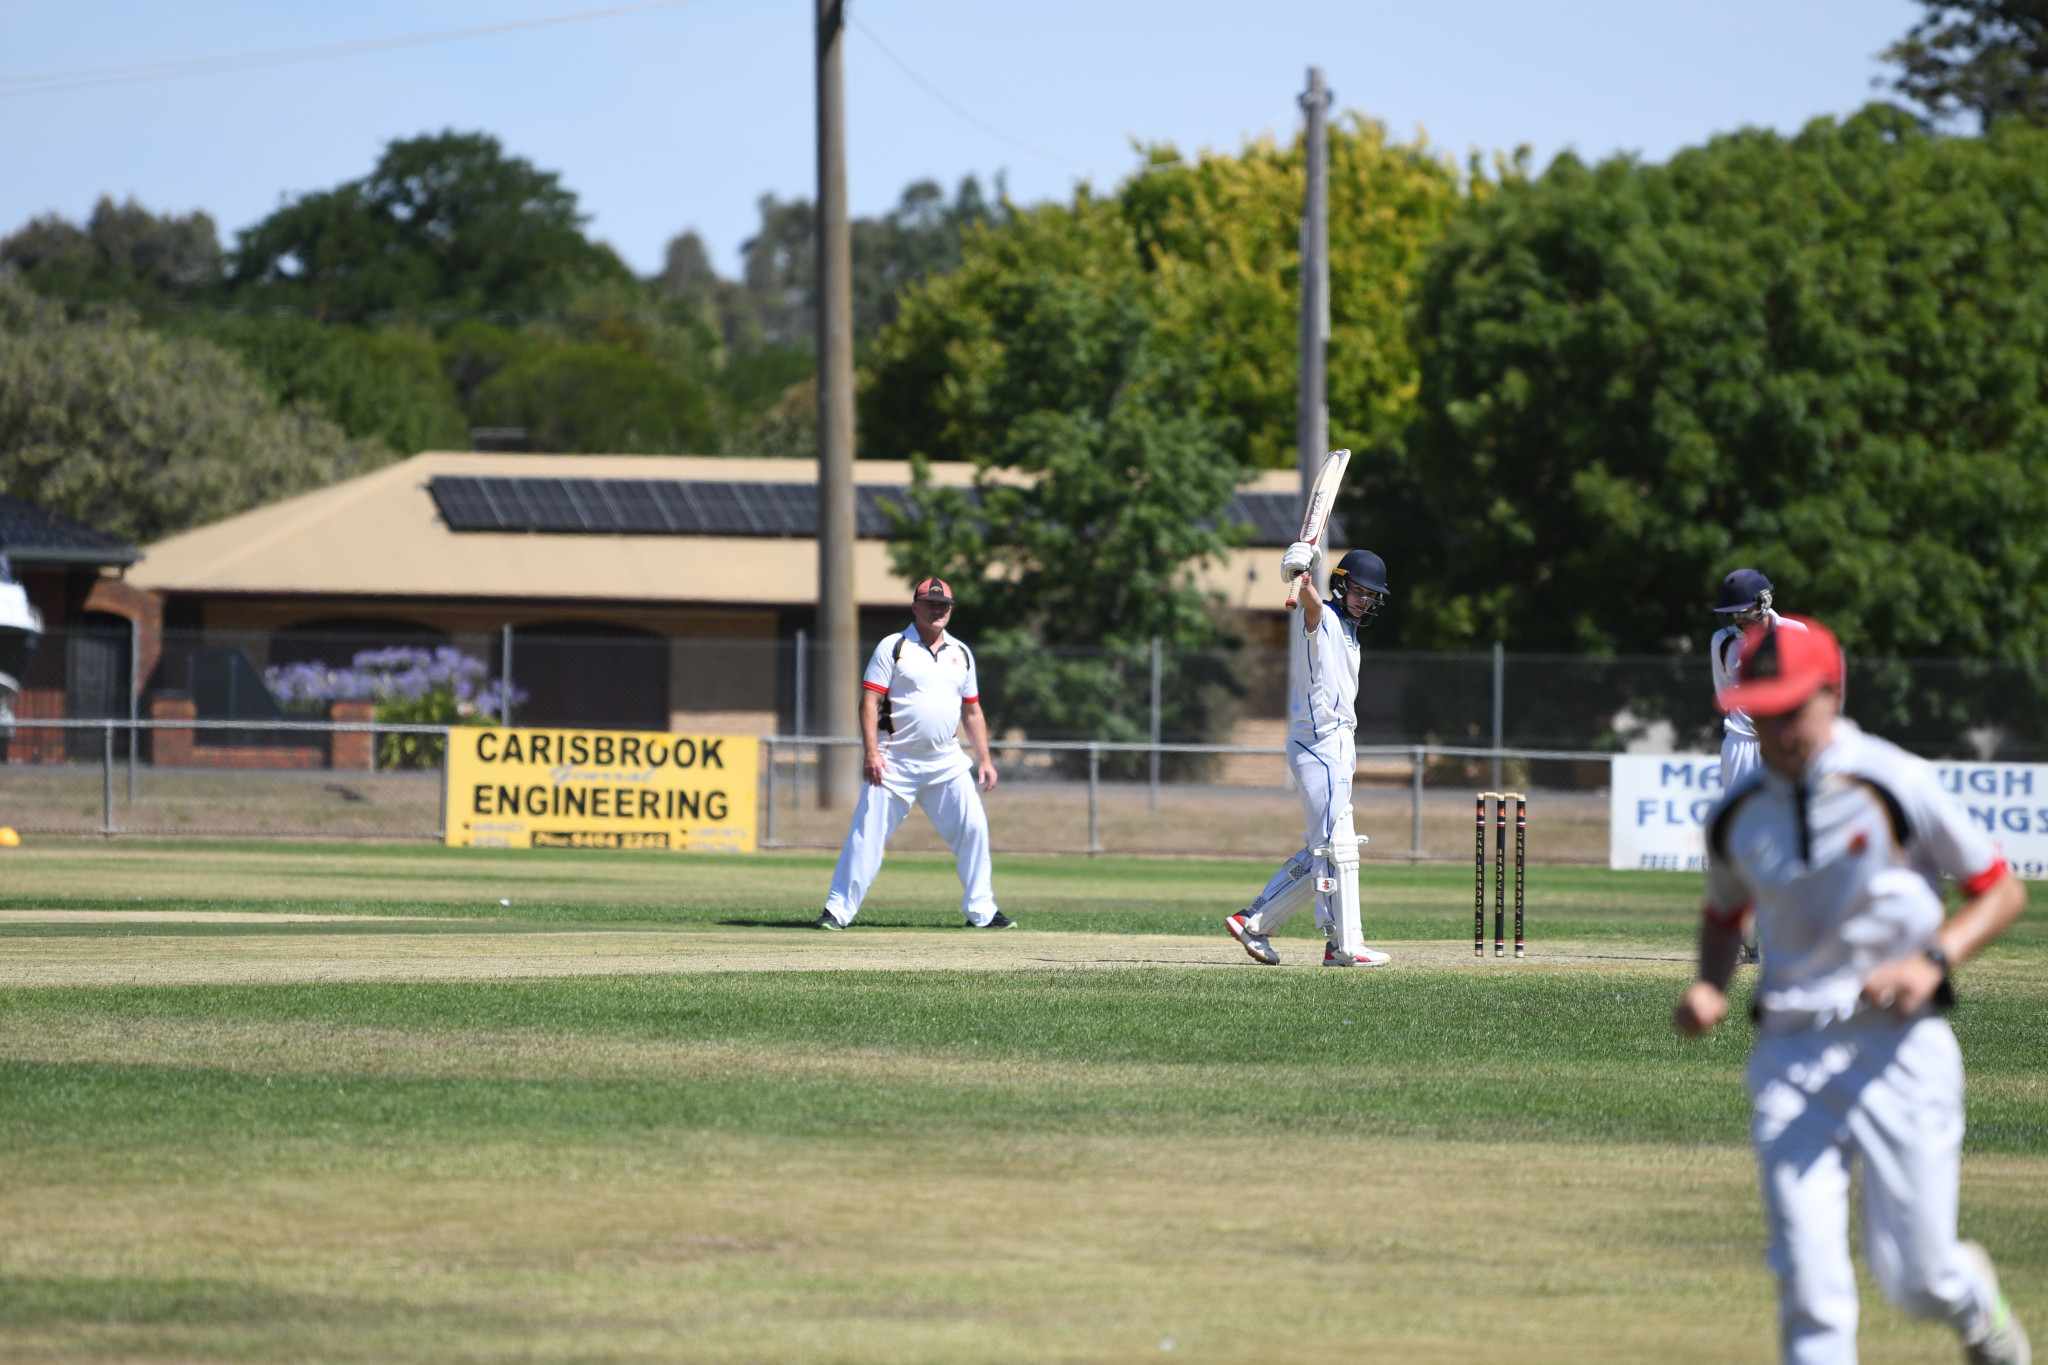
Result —
[{"label": "purple flowering shrub in front of the brick house", "polygon": [[[326,714],[328,702],[373,702],[375,718],[393,724],[498,724],[504,714],[504,681],[489,665],[459,649],[440,645],[416,649],[365,649],[346,669],[326,663],[283,663],[264,669],[285,712]],[[526,694],[512,688],[512,704]],[[381,735],[379,767],[436,767],[438,735]]]}]

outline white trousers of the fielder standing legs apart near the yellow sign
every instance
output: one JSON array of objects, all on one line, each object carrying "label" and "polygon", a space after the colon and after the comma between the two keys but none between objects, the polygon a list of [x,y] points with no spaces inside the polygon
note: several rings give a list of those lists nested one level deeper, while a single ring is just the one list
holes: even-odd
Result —
[{"label": "white trousers of the fielder standing legs apart near the yellow sign", "polygon": [[860,784],[854,823],[840,849],[840,866],[831,870],[831,892],[825,911],[842,925],[854,923],[860,902],[883,870],[889,835],[922,804],[932,827],[952,847],[961,872],[961,909],[967,923],[981,927],[995,917],[995,890],[989,872],[989,814],[975,790],[975,769],[956,759],[911,763],[895,755],[883,769],[883,784]]}]

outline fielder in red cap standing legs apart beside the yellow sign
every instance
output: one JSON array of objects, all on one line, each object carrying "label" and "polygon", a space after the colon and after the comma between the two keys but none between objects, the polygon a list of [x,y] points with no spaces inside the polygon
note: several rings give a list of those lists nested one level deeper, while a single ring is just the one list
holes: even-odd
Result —
[{"label": "fielder in red cap standing legs apart beside the yellow sign", "polygon": [[[995,788],[989,757],[989,722],[981,714],[981,679],[975,655],[946,634],[952,587],[924,579],[911,600],[915,618],[903,634],[874,647],[860,679],[860,739],[866,745],[860,800],[846,847],[831,870],[831,894],[817,917],[819,929],[844,929],[883,868],[889,835],[913,804],[924,804],[932,825],[952,845],[961,872],[961,909],[975,929],[1010,929],[995,909],[989,882],[989,817],[981,792]],[[975,757],[961,753],[958,731]]]}]

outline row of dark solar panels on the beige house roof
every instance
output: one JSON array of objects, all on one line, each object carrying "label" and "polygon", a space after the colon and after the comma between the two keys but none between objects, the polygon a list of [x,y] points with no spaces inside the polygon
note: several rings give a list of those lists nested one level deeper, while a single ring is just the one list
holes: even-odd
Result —
[{"label": "row of dark solar panels on the beige house roof", "polygon": [[[813,536],[817,485],[756,479],[502,479],[434,475],[428,493],[449,530],[612,536]],[[981,505],[965,489],[969,505]],[[909,512],[899,483],[854,487],[854,534],[883,540],[895,524],[883,510]],[[1292,493],[1237,493],[1225,520],[1245,526],[1251,544],[1288,544],[1300,526]],[[1346,544],[1331,520],[1329,538]]]}]

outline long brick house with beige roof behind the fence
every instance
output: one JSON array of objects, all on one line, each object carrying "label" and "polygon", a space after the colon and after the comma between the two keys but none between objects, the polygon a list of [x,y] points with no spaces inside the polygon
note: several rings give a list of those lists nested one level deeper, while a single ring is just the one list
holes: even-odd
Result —
[{"label": "long brick house with beige roof behind the fence", "polygon": [[[936,465],[934,479],[967,487],[973,471]],[[879,508],[909,467],[860,460],[854,481],[854,600],[874,641],[909,620]],[[1280,581],[1296,485],[1262,475],[1237,495],[1253,544],[1206,585],[1233,604],[1276,596],[1249,583]],[[815,489],[813,460],[418,454],[147,546],[129,579],[162,600],[172,641],[150,688],[197,694],[180,681],[197,677],[188,649],[236,653],[254,677],[449,647],[496,677],[510,643],[530,724],[786,733],[793,639],[815,620]],[[1278,639],[1270,616],[1247,614],[1247,634]]]}]

